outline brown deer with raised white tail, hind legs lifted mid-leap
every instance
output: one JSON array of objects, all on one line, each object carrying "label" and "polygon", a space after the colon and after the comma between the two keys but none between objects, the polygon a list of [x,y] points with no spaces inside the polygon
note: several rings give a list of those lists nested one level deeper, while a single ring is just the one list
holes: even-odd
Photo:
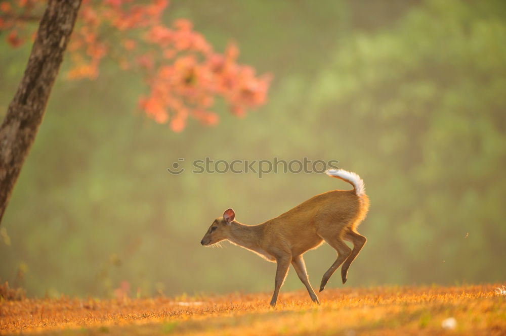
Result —
[{"label": "brown deer with raised white tail, hind legs lifted mid-leap", "polygon": [[[227,240],[230,243],[275,262],[276,277],[270,305],[274,307],[279,290],[288,274],[290,264],[306,286],[311,300],[320,304],[309,282],[303,254],[321,246],[324,242],[336,252],[337,258],[323,274],[320,292],[329,278],[341,266],[343,284],[348,269],[364,247],[367,239],[357,231],[369,209],[364,181],[356,173],[344,169],[328,169],[328,176],[350,183],[352,190],[331,190],[316,195],[293,209],[258,225],[245,225],[236,220],[232,208],[216,218],[205,232],[200,244],[214,246]],[[353,245],[348,247],[345,241]]]}]

